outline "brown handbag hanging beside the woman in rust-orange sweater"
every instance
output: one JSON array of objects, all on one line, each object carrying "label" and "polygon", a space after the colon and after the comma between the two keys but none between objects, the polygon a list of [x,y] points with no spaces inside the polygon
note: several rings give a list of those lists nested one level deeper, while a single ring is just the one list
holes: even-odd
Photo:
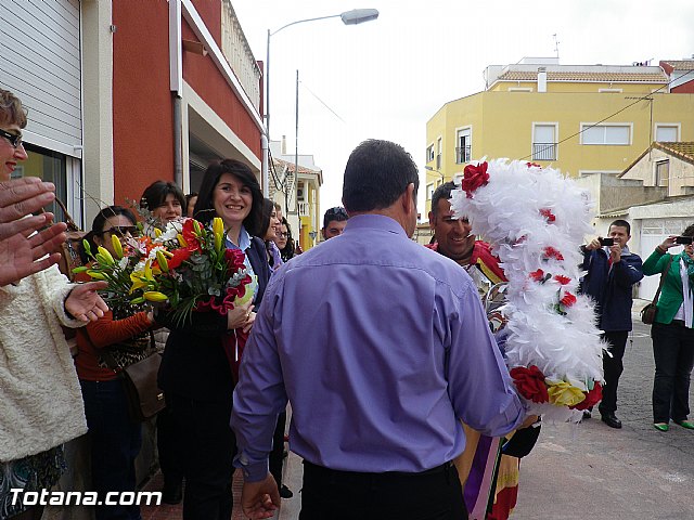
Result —
[{"label": "brown handbag hanging beside the woman in rust-orange sweater", "polygon": [[[151,332],[149,336],[153,344]],[[133,350],[119,343],[113,349],[103,349],[100,358],[110,368],[119,370],[130,419],[143,422],[166,407],[164,391],[157,385],[162,356],[156,349]]]}]

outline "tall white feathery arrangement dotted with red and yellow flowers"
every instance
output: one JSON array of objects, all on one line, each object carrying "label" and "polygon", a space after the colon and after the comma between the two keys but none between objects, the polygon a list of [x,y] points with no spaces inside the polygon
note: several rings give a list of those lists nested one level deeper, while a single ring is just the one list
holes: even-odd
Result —
[{"label": "tall white feathery arrangement dotted with red and yellow flowers", "polygon": [[504,359],[532,413],[578,421],[602,399],[603,342],[578,294],[588,194],[557,170],[497,159],[465,168],[451,206],[502,261],[509,280]]}]

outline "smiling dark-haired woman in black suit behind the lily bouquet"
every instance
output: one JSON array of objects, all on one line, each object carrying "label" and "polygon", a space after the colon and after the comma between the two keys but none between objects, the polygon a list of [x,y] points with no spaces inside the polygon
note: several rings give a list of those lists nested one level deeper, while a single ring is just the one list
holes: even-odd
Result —
[{"label": "smiling dark-haired woman in black suit behind the lily bouquet", "polygon": [[[192,323],[171,328],[159,386],[167,395],[176,428],[181,435],[185,491],[185,520],[229,520],[232,512],[231,481],[235,438],[229,427],[234,366],[243,335],[253,326],[257,307],[270,278],[262,233],[264,197],[260,185],[245,164],[224,159],[205,171],[194,214],[208,225],[222,219],[226,245],[245,253],[245,266],[257,284],[252,301],[221,315],[193,312]],[[254,236],[255,235],[255,236]],[[247,287],[252,287],[248,285]]]}]

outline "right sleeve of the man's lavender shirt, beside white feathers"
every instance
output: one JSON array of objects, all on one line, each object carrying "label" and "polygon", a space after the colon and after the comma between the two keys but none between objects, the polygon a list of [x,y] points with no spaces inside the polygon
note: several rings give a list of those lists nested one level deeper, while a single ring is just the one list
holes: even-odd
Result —
[{"label": "right sleeve of the man's lavender shirt, beside white feathers", "polygon": [[526,411],[472,288],[468,284],[454,298],[455,312],[449,316],[449,394],[463,422],[485,435],[501,437],[523,422]]}]

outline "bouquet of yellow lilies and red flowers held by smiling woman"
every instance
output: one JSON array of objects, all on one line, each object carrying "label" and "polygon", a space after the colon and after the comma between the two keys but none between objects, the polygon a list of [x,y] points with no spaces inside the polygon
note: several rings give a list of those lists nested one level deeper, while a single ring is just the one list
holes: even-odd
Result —
[{"label": "bouquet of yellow lilies and red flowers held by smiling woman", "polygon": [[92,262],[79,270],[108,282],[104,291],[112,307],[168,304],[174,323],[181,325],[194,311],[226,314],[253,298],[245,255],[224,247],[221,219],[209,226],[183,219],[154,231],[154,237],[137,236],[125,244],[112,235],[115,256],[101,246],[93,252],[85,242]]}]

